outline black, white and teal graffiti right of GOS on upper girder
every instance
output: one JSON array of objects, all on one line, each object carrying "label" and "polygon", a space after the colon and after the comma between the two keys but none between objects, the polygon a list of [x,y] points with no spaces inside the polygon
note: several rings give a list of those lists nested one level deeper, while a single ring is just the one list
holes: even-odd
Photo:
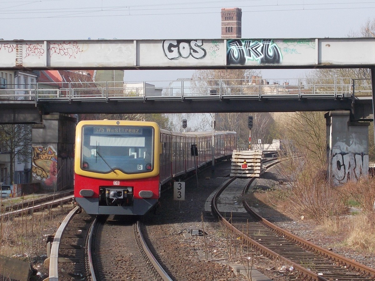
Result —
[{"label": "black, white and teal graffiti right of GOS on upper girder", "polygon": [[272,39],[231,39],[226,42],[228,64],[246,64],[257,61],[258,64],[280,64],[282,54]]}]

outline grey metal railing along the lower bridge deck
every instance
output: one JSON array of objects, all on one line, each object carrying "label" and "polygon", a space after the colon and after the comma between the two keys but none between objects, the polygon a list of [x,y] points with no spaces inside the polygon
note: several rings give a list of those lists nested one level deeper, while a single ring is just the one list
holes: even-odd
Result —
[{"label": "grey metal railing along the lower bridge deck", "polygon": [[[256,76],[258,77],[258,76]],[[5,85],[7,86],[7,85]],[[372,95],[371,79],[209,79],[150,82],[34,83],[0,88],[6,100],[121,100],[244,98],[345,98]]]}]

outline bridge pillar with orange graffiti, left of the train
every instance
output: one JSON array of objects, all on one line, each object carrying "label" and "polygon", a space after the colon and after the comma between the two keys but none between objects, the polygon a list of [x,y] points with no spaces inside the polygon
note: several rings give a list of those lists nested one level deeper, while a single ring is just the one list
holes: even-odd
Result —
[{"label": "bridge pillar with orange graffiti, left of the train", "polygon": [[32,182],[44,190],[73,188],[75,118],[63,114],[42,116],[32,125]]}]

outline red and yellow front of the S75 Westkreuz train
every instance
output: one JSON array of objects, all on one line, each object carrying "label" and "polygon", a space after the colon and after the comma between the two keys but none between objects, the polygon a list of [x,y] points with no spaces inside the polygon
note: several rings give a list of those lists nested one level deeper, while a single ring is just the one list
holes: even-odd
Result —
[{"label": "red and yellow front of the S75 Westkreuz train", "polygon": [[88,214],[144,215],[160,196],[160,129],[154,122],[81,121],[74,196]]}]

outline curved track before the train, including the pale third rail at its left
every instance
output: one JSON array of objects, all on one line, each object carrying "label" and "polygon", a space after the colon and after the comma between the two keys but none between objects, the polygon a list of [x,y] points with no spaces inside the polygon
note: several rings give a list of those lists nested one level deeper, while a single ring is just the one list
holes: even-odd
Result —
[{"label": "curved track before the train, including the pale third rail at its left", "polygon": [[54,236],[45,281],[172,280],[147,247],[139,221],[104,221],[79,211],[72,210]]}]

